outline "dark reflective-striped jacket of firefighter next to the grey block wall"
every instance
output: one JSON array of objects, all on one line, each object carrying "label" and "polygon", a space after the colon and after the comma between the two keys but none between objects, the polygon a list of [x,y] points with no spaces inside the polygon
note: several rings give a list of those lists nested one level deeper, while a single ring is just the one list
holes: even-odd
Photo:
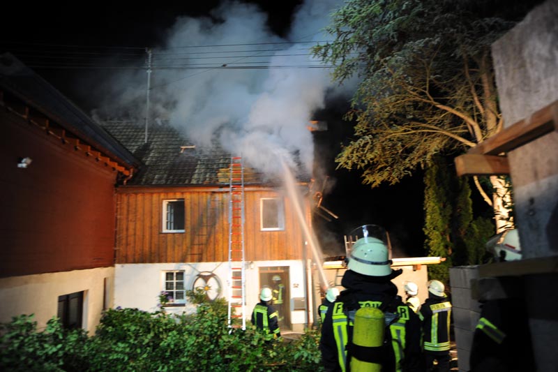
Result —
[{"label": "dark reflective-striped jacket of firefighter next to the grey block wall", "polygon": [[418,311],[423,320],[424,352],[447,354],[450,349],[451,303],[448,297],[430,295]]}]

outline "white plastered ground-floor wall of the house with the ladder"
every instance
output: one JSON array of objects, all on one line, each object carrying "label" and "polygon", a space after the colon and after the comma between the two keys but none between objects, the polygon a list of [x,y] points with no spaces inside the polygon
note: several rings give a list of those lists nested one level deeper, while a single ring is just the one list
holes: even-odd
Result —
[{"label": "white plastered ground-floor wall of the house with the ladder", "polygon": [[[251,265],[250,265],[251,264]],[[304,267],[301,260],[276,260],[246,262],[246,313],[250,319],[252,309],[259,302],[259,267],[289,267],[289,296],[291,321],[293,325],[306,323],[306,311],[293,311],[293,299],[306,297]],[[200,272],[215,274],[221,283],[220,297],[228,295],[228,262],[198,263],[161,263],[161,264],[119,264],[115,268],[114,306],[122,308],[139,308],[143,311],[158,310],[158,295],[163,290],[162,271],[184,270],[185,287],[191,290]],[[190,313],[195,306],[167,307],[167,313]]]}]

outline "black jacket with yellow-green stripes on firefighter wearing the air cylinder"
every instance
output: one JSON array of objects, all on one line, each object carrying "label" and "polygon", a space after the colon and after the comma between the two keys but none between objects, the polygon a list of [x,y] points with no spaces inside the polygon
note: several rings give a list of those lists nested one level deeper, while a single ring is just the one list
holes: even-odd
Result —
[{"label": "black jacket with yellow-green stripes on firefighter wearing the air cylinder", "polygon": [[[347,270],[341,284],[348,289],[329,306],[322,324],[320,351],[326,371],[349,371],[351,355],[356,352],[367,355],[367,362],[382,364],[382,372],[424,371],[421,322],[397,296],[391,280]],[[380,308],[386,318],[393,315],[386,326],[384,345],[372,350],[358,350],[352,344],[353,315],[364,306]]]}]

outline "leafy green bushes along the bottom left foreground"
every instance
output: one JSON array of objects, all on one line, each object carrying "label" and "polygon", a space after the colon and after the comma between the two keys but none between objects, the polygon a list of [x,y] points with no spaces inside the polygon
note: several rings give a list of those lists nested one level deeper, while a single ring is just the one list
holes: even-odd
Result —
[{"label": "leafy green bushes along the bottom left foreground", "polygon": [[227,304],[197,303],[192,315],[110,309],[96,334],[63,329],[58,320],[38,332],[31,316],[1,325],[2,371],[322,371],[319,333],[296,340],[264,342],[253,327],[227,326]]}]

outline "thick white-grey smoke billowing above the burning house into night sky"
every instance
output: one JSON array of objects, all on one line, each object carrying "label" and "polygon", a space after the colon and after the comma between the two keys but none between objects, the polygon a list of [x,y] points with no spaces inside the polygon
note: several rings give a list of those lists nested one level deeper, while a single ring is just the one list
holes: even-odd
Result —
[{"label": "thick white-grey smoke billowing above the burning house into night sky", "polygon": [[[305,1],[287,38],[266,27],[267,15],[254,4],[227,1],[208,17],[177,18],[167,43],[153,50],[151,116],[168,119],[196,144],[218,137],[261,171],[280,172],[281,156],[311,174],[308,121],[324,107],[332,83],[331,70],[308,67],[319,66],[308,42],[327,38],[321,29],[341,3]],[[185,65],[197,69],[158,68]]]}]

